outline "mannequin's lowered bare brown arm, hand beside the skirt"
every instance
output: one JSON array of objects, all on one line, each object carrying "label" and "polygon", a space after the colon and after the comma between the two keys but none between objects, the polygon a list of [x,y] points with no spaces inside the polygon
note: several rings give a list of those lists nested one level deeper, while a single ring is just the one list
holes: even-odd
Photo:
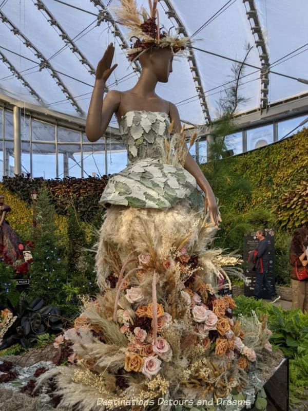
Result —
[{"label": "mannequin's lowered bare brown arm, hand beside the skirt", "polygon": [[[170,103],[170,113],[169,117],[171,121],[174,121],[174,129],[176,133],[179,133],[181,130],[181,121],[179,116],[179,111],[177,107]],[[207,179],[205,178],[204,174],[200,170],[199,165],[196,161],[191,157],[188,153],[186,156],[186,160],[184,163],[184,169],[187,170],[192,176],[196,178],[197,184],[199,185],[200,189],[205,194],[204,199],[204,212],[207,212],[207,207],[209,210],[209,217],[213,225],[218,228],[219,221],[221,221],[221,217],[218,211],[217,202],[213,190],[209,185]]]}]

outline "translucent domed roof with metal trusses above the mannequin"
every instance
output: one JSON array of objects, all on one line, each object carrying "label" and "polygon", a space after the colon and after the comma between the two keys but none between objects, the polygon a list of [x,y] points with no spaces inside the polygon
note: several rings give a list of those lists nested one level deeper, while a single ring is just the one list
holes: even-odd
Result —
[{"label": "translucent domed roof with metal trusses above the mannequin", "polygon": [[[146,0],[138,5],[147,7]],[[136,83],[126,30],[115,21],[117,0],[3,0],[0,2],[0,93],[59,113],[86,117],[94,70],[106,46],[115,44],[109,89]],[[308,95],[306,0],[161,0],[160,25],[194,41],[176,57],[161,97],[178,106],[182,120],[208,124],[221,92],[232,86],[233,60],[248,55],[241,95],[246,112]],[[228,84],[225,84],[228,83]],[[111,126],[117,127],[115,119]]]}]

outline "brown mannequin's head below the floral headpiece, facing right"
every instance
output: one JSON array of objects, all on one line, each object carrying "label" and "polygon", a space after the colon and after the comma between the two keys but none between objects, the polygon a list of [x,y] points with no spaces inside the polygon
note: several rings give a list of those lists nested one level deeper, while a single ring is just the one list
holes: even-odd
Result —
[{"label": "brown mannequin's head below the floral headpiece, facing right", "polygon": [[150,70],[161,83],[168,81],[172,72],[172,60],[173,52],[170,48],[152,48],[139,57],[142,69]]}]

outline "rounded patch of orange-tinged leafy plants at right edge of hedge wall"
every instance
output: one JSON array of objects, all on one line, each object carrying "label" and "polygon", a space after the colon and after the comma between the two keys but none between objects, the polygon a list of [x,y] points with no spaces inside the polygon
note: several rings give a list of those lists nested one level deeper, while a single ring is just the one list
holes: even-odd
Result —
[{"label": "rounded patch of orange-tinged leafy plants at right edge of hedge wall", "polygon": [[295,189],[288,190],[276,206],[277,220],[281,227],[294,230],[308,222],[308,183],[301,181]]}]

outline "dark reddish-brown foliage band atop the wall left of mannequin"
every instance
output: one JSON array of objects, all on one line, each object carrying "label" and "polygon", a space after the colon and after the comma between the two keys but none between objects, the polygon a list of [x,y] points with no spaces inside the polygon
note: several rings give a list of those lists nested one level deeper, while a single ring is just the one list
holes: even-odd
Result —
[{"label": "dark reddish-brown foliage band atop the wall left of mannequin", "polygon": [[52,203],[58,214],[67,214],[72,205],[83,221],[91,221],[95,214],[103,208],[99,199],[108,182],[108,176],[74,178],[66,177],[63,180],[31,179],[30,175],[3,178],[3,185],[19,198],[31,204],[30,193],[40,191],[44,186],[52,195]]}]

